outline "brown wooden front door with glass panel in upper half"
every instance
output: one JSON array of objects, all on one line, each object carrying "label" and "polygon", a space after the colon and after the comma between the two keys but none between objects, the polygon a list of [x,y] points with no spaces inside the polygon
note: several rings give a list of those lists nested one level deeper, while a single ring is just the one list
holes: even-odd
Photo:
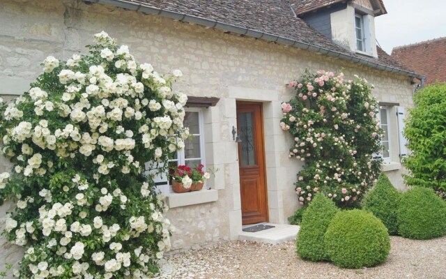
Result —
[{"label": "brown wooden front door with glass panel in upper half", "polygon": [[242,222],[268,222],[262,104],[237,102],[237,128]]}]

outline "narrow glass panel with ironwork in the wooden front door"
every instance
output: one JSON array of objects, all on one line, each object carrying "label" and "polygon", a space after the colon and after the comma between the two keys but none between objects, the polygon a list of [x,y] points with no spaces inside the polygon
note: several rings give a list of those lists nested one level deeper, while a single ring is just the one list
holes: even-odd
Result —
[{"label": "narrow glass panel with ironwork in the wooden front door", "polygon": [[254,142],[254,112],[241,112],[238,114],[238,132],[242,140],[240,157],[241,166],[257,165]]}]

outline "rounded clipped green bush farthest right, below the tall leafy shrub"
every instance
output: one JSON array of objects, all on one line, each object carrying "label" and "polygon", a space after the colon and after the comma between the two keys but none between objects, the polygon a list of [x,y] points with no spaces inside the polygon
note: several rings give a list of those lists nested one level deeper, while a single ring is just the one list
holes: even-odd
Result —
[{"label": "rounded clipped green bush farthest right, below the tall leafy shrub", "polygon": [[401,196],[399,234],[408,239],[432,239],[446,234],[446,203],[432,189],[415,187]]}]

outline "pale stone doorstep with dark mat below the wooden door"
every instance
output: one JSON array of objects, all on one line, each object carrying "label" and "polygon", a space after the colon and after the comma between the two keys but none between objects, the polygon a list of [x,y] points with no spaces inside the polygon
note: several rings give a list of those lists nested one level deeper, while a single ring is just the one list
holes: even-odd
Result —
[{"label": "pale stone doorstep with dark mat below the wooden door", "polygon": [[[254,241],[268,244],[278,244],[291,241],[298,235],[299,226],[287,224],[261,223],[263,225],[272,225],[271,229],[264,229],[260,232],[240,232],[238,240]],[[244,225],[243,227],[251,227],[259,224]]]}]

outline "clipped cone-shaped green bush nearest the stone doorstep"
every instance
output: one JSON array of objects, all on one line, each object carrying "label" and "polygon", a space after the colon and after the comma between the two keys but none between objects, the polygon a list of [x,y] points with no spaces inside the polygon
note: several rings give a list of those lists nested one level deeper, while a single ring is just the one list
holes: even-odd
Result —
[{"label": "clipped cone-shaped green bush nearest the stone doorstep", "polygon": [[321,193],[315,195],[303,214],[296,240],[296,252],[302,259],[313,262],[329,259],[323,246],[323,236],[338,211],[331,199]]}]

